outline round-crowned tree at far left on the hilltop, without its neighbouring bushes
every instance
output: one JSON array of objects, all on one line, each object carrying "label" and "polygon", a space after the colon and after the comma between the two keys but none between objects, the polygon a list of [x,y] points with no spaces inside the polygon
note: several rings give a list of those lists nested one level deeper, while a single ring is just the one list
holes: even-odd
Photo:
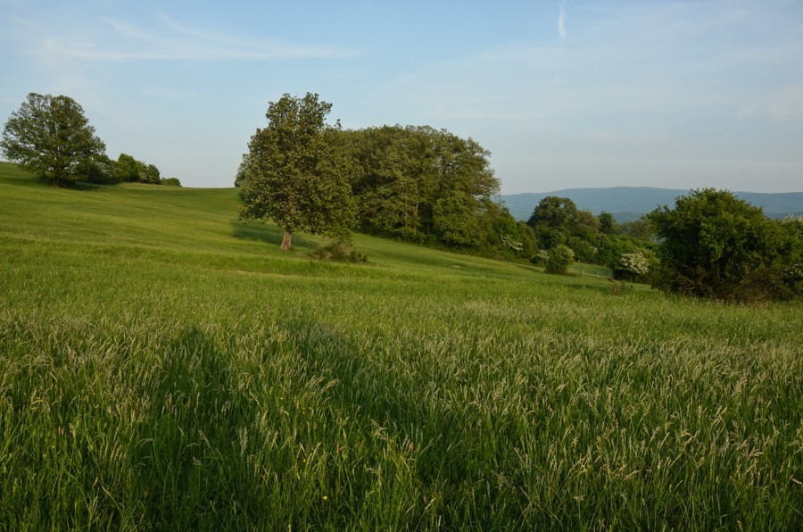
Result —
[{"label": "round-crowned tree at far left on the hilltop, without its neighbouring bushes", "polygon": [[57,187],[88,176],[93,158],[106,149],[75,100],[36,93],[12,112],[0,147],[9,160]]}]

